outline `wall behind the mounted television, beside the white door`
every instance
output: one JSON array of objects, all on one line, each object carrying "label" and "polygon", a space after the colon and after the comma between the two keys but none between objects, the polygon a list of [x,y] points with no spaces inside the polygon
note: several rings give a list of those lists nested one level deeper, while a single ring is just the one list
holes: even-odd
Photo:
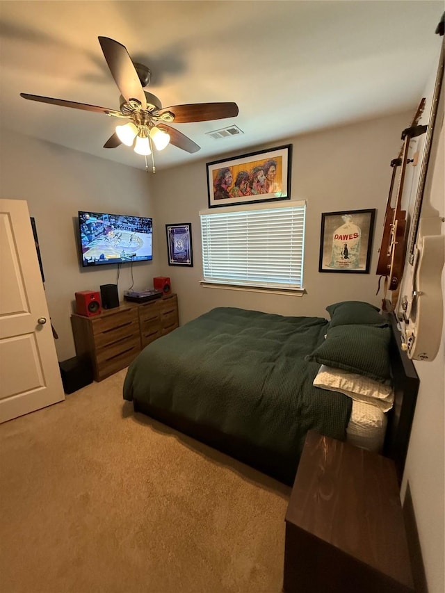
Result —
[{"label": "wall behind the mounted television, beside the white door", "polygon": [[[35,218],[51,323],[58,339],[59,360],[75,355],[70,323],[76,291],[99,291],[101,284],[118,282],[118,266],[82,268],[79,261],[78,210],[153,216],[150,176],[145,170],[1,132],[1,197],[26,200]],[[140,289],[152,286],[159,275],[156,232],[153,261],[133,264]],[[133,282],[130,264],[121,266],[120,298]]]}]

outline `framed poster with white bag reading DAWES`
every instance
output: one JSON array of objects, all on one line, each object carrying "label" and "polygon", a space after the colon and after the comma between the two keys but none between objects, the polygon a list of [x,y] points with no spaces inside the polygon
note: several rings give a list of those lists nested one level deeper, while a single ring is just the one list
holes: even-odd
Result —
[{"label": "framed poster with white bag reading DAWES", "polygon": [[369,274],[375,209],[321,215],[319,272]]}]

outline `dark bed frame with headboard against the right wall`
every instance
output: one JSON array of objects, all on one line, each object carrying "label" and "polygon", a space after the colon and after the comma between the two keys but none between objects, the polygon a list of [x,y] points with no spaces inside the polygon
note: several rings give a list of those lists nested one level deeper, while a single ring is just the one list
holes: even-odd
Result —
[{"label": "dark bed frame with headboard against the right wall", "polygon": [[[390,357],[394,375],[395,399],[394,407],[388,413],[383,455],[394,460],[400,485],[410,440],[417,391],[419,390],[419,377],[412,361],[401,348],[401,334],[394,313],[386,315],[392,329]],[[289,476],[277,469],[277,465],[280,464],[277,463],[276,457],[268,450],[254,446],[244,439],[229,437],[217,428],[200,425],[200,423],[184,419],[184,417],[170,412],[170,410],[159,409],[149,403],[139,402],[135,399],[133,400],[133,408],[135,412],[143,412],[143,414],[147,414],[153,419],[179,430],[179,432],[188,434],[193,439],[216,448],[268,474],[268,476],[280,480],[280,482],[293,485],[294,476]]]}]

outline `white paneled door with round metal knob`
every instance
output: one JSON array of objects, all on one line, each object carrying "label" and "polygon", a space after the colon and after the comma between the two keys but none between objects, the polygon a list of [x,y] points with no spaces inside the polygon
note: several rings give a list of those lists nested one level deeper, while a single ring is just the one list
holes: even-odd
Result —
[{"label": "white paneled door with round metal knob", "polygon": [[28,204],[0,200],[0,422],[64,399]]}]

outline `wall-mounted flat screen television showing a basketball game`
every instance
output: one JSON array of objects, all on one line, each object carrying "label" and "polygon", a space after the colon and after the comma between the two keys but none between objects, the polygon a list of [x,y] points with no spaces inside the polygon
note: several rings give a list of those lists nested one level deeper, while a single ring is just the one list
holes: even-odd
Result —
[{"label": "wall-mounted flat screen television showing a basketball game", "polygon": [[152,259],[152,218],[79,210],[82,266]]}]

